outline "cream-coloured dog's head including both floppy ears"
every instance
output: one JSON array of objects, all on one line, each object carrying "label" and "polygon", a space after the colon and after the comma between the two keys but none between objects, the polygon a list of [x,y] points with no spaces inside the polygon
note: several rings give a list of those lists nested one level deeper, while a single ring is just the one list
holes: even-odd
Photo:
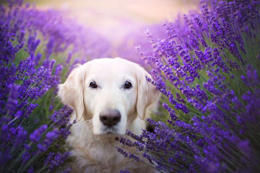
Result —
[{"label": "cream-coloured dog's head including both floppy ears", "polygon": [[78,120],[91,123],[94,134],[125,134],[137,114],[144,119],[146,108],[158,98],[145,76],[151,78],[128,60],[95,59],[73,69],[58,95],[74,108]]}]

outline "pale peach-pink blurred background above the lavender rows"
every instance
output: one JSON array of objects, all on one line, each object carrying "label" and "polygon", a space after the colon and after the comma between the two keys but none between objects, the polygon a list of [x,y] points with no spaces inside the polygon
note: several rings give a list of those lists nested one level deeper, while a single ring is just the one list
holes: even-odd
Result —
[{"label": "pale peach-pink blurred background above the lavender rows", "polygon": [[[6,3],[5,0],[0,2]],[[130,33],[144,33],[149,25],[173,21],[197,8],[194,0],[25,0],[36,8],[65,11],[77,22],[90,26],[118,47]],[[137,46],[137,45],[135,45]]]}]

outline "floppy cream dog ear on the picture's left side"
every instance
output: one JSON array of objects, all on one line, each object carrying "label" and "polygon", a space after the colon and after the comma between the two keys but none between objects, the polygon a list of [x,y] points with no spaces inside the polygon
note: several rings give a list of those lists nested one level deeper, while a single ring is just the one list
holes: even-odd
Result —
[{"label": "floppy cream dog ear on the picture's left side", "polygon": [[80,120],[85,111],[83,100],[84,90],[84,70],[81,70],[82,65],[78,64],[69,74],[67,80],[63,84],[58,85],[58,97],[61,98],[63,104],[74,108],[77,115],[77,120]]}]

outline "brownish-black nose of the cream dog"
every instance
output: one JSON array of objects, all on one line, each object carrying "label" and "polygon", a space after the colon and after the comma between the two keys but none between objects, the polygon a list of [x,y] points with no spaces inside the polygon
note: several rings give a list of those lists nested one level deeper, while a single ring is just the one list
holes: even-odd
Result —
[{"label": "brownish-black nose of the cream dog", "polygon": [[121,114],[118,110],[104,110],[99,114],[100,121],[106,126],[114,126],[120,121]]}]

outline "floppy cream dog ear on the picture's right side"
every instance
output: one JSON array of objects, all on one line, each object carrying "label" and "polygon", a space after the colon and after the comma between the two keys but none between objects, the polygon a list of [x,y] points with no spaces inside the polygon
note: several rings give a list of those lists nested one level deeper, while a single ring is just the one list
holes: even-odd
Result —
[{"label": "floppy cream dog ear on the picture's right side", "polygon": [[156,87],[146,80],[146,76],[152,79],[151,75],[147,73],[142,67],[138,66],[137,70],[137,114],[144,120],[146,108],[158,101],[160,92],[156,90]]}]

